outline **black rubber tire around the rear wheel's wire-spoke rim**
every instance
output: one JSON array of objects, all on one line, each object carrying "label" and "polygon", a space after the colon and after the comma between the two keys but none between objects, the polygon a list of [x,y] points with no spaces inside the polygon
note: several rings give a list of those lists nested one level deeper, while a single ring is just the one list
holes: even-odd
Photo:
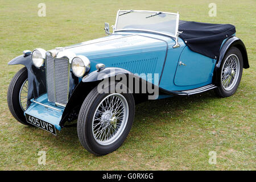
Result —
[{"label": "black rubber tire around the rear wheel's wire-spoke rim", "polygon": [[[238,77],[237,77],[237,79],[234,79],[234,81],[236,81],[236,82],[234,82],[233,84],[232,84],[232,86],[230,87],[230,89],[228,89],[228,88],[225,88],[225,83],[223,84],[222,83],[222,69],[224,68],[224,64],[225,64],[225,60],[228,58],[228,57],[230,57],[230,56],[232,56],[232,55],[235,55],[234,57],[236,58],[238,58],[238,62],[239,62],[239,74],[238,74]],[[226,54],[225,54],[225,56],[224,56],[224,59],[222,60],[222,63],[221,63],[221,66],[220,66],[220,71],[218,72],[218,75],[217,75],[217,79],[218,79],[218,82],[219,82],[219,86],[215,89],[215,92],[216,92],[216,94],[218,95],[218,96],[220,96],[220,97],[229,97],[229,96],[232,96],[235,92],[236,92],[236,90],[237,90],[237,88],[238,88],[238,86],[239,86],[239,84],[240,84],[240,81],[241,81],[241,77],[242,77],[242,72],[243,72],[243,57],[242,57],[242,53],[240,52],[240,50],[238,49],[238,48],[236,48],[236,47],[231,47],[227,52],[226,52]],[[230,73],[230,75],[231,75],[231,73]]]}]

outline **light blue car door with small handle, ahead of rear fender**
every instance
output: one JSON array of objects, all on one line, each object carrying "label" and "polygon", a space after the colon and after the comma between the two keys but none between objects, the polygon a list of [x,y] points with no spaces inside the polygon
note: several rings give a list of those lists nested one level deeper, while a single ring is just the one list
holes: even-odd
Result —
[{"label": "light blue car door with small handle, ahead of rear fender", "polygon": [[[185,47],[177,64],[174,83],[177,86],[199,85],[212,83],[213,69],[216,60],[191,51]],[[203,84],[203,85],[202,85]]]}]

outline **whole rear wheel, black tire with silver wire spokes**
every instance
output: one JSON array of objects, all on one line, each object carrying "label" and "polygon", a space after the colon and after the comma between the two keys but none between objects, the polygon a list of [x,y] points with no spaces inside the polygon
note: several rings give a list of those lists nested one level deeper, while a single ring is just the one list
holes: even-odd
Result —
[{"label": "whole rear wheel, black tire with silver wire spokes", "polygon": [[216,93],[221,97],[232,96],[241,81],[243,71],[243,58],[240,50],[232,47],[226,52],[221,63],[221,71],[218,75],[220,86],[216,88]]}]

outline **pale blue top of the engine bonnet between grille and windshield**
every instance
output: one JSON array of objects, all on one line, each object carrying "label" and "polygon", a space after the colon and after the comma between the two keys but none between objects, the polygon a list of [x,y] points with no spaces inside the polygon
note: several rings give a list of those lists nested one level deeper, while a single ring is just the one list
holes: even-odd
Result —
[{"label": "pale blue top of the engine bonnet between grille and windshield", "polygon": [[[108,36],[105,37],[105,39],[105,42],[85,45],[81,44],[78,47],[67,48],[67,50],[76,53],[76,55],[84,55],[92,61],[102,58],[111,59],[111,57],[162,51],[163,49],[166,49],[166,43],[163,41],[152,38],[144,38],[143,36],[139,36],[137,34],[123,36],[122,38],[118,39],[110,39]],[[104,39],[102,38],[102,40]]]}]

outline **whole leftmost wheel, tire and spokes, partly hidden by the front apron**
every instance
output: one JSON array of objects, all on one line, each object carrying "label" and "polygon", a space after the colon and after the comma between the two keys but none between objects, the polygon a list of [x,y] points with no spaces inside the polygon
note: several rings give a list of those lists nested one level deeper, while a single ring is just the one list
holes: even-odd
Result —
[{"label": "whole leftmost wheel, tire and spokes, partly hidden by the front apron", "polygon": [[23,125],[30,125],[27,123],[24,116],[24,111],[27,109],[27,93],[28,93],[28,80],[27,68],[20,69],[10,82],[7,102],[9,110],[13,117]]}]

